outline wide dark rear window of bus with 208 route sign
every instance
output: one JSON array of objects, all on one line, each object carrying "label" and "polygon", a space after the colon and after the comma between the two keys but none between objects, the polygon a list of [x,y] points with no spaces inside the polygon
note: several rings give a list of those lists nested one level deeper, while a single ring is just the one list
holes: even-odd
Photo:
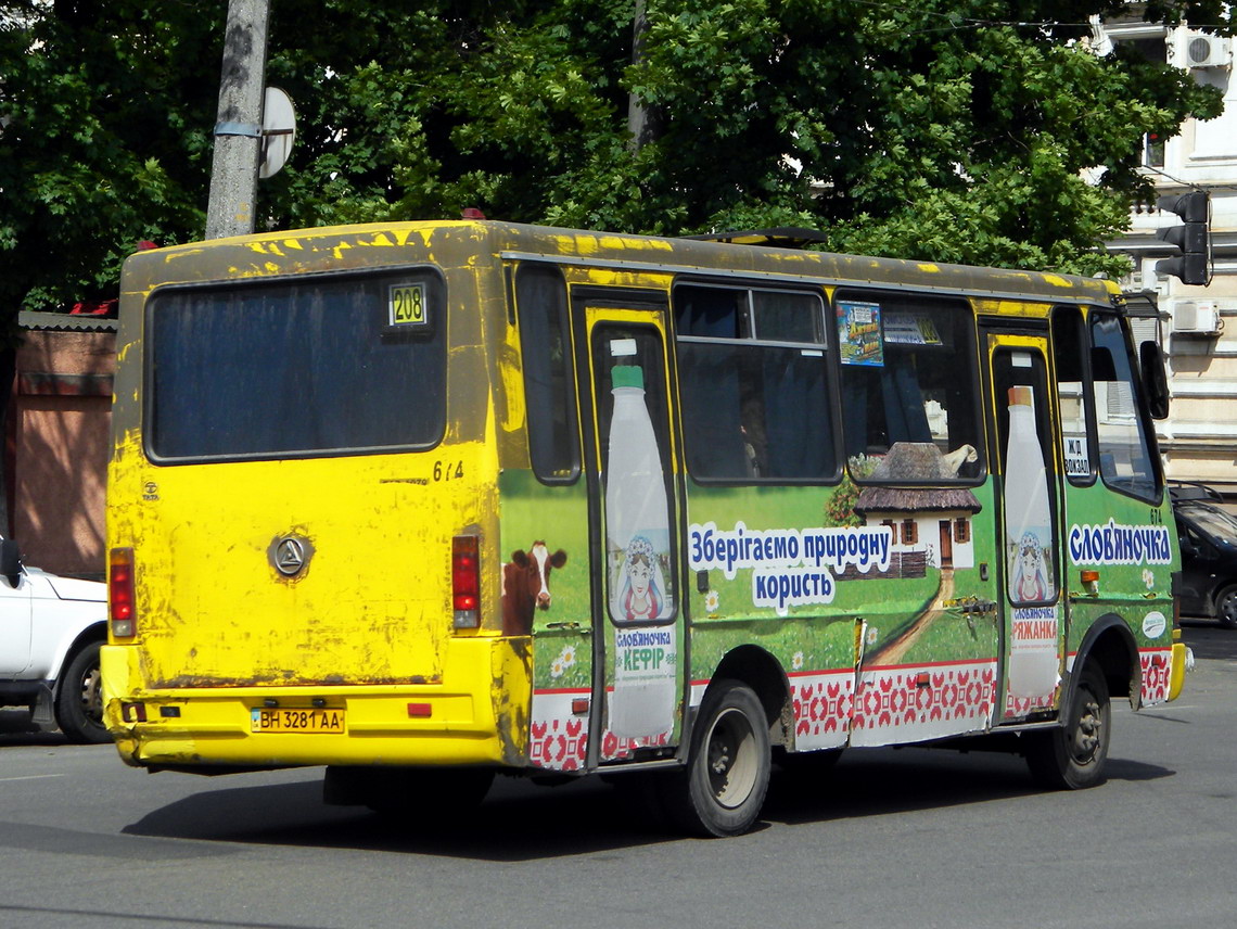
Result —
[{"label": "wide dark rear window of bus with 208 route sign", "polygon": [[445,299],[427,271],[156,292],[156,460],[427,448],[445,424]]}]

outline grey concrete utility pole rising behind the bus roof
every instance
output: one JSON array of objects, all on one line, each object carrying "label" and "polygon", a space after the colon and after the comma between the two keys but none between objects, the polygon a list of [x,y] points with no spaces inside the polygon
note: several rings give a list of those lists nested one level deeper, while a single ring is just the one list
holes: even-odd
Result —
[{"label": "grey concrete utility pole rising behind the bus roof", "polygon": [[271,0],[228,0],[207,239],[254,231]]}]

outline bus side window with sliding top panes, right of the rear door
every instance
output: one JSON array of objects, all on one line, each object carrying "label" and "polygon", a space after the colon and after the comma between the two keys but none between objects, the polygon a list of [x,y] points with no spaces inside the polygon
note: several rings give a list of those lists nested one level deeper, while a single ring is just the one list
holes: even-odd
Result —
[{"label": "bus side window with sliding top panes, right of the rear door", "polygon": [[815,293],[674,288],[684,452],[696,480],[836,476],[824,303]]}]

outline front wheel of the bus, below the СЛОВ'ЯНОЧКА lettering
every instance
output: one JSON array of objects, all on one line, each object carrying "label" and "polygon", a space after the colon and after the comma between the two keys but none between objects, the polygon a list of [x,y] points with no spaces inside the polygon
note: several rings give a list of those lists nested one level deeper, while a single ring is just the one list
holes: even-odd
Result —
[{"label": "front wheel of the bus, below the \u0421\u041b\u041e\u0412'\u042f\u041d\u041e\u0427\u041a\u0410 lettering", "polygon": [[1089,659],[1070,696],[1064,725],[1033,734],[1027,747],[1027,764],[1035,783],[1054,790],[1102,784],[1111,721],[1108,684],[1100,666]]}]

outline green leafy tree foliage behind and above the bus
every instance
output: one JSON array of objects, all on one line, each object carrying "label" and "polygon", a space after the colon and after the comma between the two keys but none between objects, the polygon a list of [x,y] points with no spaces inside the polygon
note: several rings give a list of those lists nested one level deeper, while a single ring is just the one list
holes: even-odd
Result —
[{"label": "green leafy tree foliage behind and above the bus", "polygon": [[[115,296],[139,240],[202,235],[225,6],[0,0],[0,308]],[[808,225],[836,250],[1117,272],[1097,246],[1148,193],[1143,134],[1220,108],[1086,49],[1113,0],[644,6],[633,63],[636,0],[272,0],[267,83],[298,139],[260,215]],[[1138,9],[1222,22],[1220,0]]]}]

